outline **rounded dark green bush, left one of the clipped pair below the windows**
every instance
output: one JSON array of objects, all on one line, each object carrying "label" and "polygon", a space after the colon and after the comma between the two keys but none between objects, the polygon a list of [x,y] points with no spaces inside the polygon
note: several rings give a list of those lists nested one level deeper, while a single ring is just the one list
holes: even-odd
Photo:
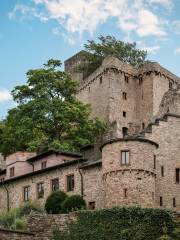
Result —
[{"label": "rounded dark green bush, left one of the clipped pair below the windows", "polygon": [[45,210],[47,213],[58,214],[61,213],[61,206],[67,195],[62,191],[55,191],[47,198],[45,203]]}]

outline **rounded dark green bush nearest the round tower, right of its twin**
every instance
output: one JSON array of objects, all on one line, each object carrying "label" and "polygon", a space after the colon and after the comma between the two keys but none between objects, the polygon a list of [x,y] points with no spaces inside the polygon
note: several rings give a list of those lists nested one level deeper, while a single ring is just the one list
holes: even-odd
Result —
[{"label": "rounded dark green bush nearest the round tower, right of its twin", "polygon": [[86,202],[80,195],[67,197],[62,203],[62,212],[68,213],[79,209],[85,209]]}]

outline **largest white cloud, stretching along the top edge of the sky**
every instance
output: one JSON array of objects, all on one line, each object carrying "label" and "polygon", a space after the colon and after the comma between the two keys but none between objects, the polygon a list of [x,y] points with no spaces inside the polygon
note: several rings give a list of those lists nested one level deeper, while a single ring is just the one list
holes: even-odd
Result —
[{"label": "largest white cloud, stretching along the top edge of the sky", "polygon": [[[90,32],[110,18],[127,34],[135,32],[140,37],[166,36],[164,19],[153,13],[152,5],[170,6],[172,0],[33,0],[34,5],[16,5],[9,13],[11,19],[18,13],[56,20],[67,33]],[[43,9],[43,10],[42,10]],[[56,31],[54,31],[56,34]]]}]

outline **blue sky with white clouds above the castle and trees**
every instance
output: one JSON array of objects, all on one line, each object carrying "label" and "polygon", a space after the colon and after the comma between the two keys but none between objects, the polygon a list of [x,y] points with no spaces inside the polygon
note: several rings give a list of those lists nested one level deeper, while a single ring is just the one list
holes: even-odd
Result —
[{"label": "blue sky with white clouds above the castle and trees", "polygon": [[114,35],[180,76],[180,0],[0,0],[0,119],[29,69]]}]

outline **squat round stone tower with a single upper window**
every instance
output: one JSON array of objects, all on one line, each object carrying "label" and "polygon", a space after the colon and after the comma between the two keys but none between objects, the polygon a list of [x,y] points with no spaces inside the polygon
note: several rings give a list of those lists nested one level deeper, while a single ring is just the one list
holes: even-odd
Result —
[{"label": "squat round stone tower with a single upper window", "polygon": [[102,146],[105,207],[155,206],[155,151],[147,139],[114,139]]}]

